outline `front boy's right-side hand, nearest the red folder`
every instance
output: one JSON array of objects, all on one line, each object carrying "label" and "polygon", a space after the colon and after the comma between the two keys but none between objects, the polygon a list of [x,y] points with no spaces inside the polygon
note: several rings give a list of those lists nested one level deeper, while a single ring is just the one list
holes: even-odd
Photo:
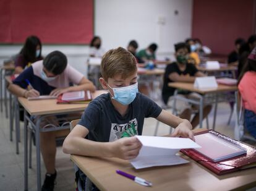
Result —
[{"label": "front boy's right-side hand, nearest the red folder", "polygon": [[184,121],[181,124],[179,124],[173,134],[171,134],[172,137],[184,137],[184,138],[190,138],[195,141],[193,132],[192,132],[192,125],[189,121]]}]

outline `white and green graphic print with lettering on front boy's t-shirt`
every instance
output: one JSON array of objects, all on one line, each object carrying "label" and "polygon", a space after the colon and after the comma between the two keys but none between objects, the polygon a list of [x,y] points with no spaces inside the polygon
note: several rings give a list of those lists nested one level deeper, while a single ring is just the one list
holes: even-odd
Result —
[{"label": "white and green graphic print with lettering on front boy's t-shirt", "polygon": [[137,122],[136,118],[130,120],[126,124],[114,124],[114,123],[111,124],[109,142],[113,142],[113,141],[121,138],[122,134],[124,134],[124,132],[128,132],[129,134],[130,134],[130,132],[134,132],[134,129],[135,129],[136,133],[138,134],[138,122]]}]

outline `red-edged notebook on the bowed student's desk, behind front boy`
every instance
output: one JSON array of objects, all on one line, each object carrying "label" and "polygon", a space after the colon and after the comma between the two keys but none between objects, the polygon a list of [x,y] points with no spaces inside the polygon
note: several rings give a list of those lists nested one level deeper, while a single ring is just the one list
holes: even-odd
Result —
[{"label": "red-edged notebook on the bowed student's desk, behind front boy", "polygon": [[59,95],[57,103],[89,103],[92,101],[92,93],[90,91],[71,91]]}]

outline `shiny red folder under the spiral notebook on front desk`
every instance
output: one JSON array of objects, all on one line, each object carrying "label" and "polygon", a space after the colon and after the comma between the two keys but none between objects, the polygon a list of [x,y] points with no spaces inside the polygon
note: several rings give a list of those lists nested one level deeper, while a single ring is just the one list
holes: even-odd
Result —
[{"label": "shiny red folder under the spiral notebook on front desk", "polygon": [[229,172],[239,171],[242,169],[252,168],[256,166],[256,149],[254,146],[247,145],[245,143],[233,140],[232,138],[226,137],[223,134],[220,134],[214,130],[205,130],[203,132],[199,132],[195,135],[211,133],[216,135],[217,137],[224,139],[228,142],[233,143],[234,145],[241,146],[247,150],[246,155],[237,156],[231,159],[225,159],[219,162],[213,162],[207,157],[203,156],[201,153],[194,149],[182,149],[181,152],[190,158],[194,159],[198,163],[202,164],[206,168],[215,172],[215,174],[222,175],[227,174]]}]

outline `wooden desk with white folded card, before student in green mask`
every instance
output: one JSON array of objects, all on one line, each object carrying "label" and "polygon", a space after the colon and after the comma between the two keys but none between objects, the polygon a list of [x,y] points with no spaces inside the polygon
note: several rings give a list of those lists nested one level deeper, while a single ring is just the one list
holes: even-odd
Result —
[{"label": "wooden desk with white folded card, before student in green mask", "polygon": [[[215,121],[216,121],[216,112],[218,107],[218,93],[228,92],[228,91],[237,91],[236,86],[229,86],[229,85],[218,85],[218,88],[213,89],[197,89],[194,88],[194,83],[183,83],[183,82],[171,82],[168,83],[169,87],[176,88],[176,91],[174,92],[174,100],[182,100],[187,101],[189,103],[197,104],[199,106],[199,121],[200,121],[200,128],[203,127],[203,100],[205,99],[205,95],[208,93],[214,93],[215,94],[215,111],[213,116],[213,130],[215,129]],[[191,100],[189,98],[184,98],[182,96],[179,96],[177,94],[177,90],[187,90],[199,93],[200,99],[197,100]],[[173,102],[173,108],[176,108],[176,101]]]}]

